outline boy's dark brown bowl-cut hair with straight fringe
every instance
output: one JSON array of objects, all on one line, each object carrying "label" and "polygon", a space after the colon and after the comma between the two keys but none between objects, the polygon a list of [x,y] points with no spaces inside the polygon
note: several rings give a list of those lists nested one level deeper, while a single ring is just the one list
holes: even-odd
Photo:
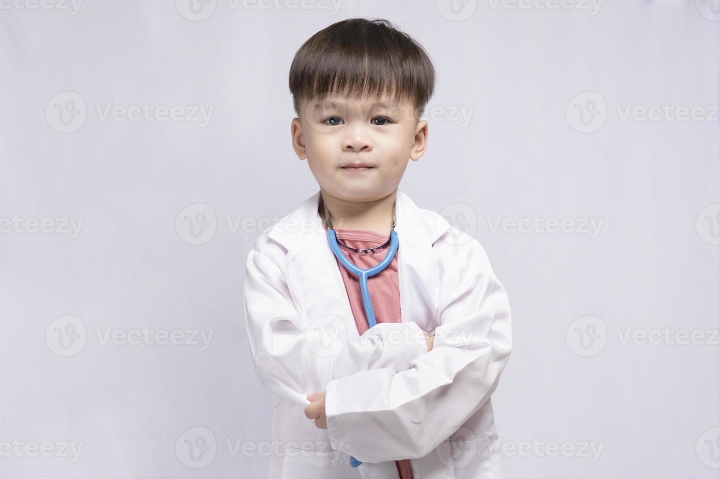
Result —
[{"label": "boy's dark brown bowl-cut hair with straight fringe", "polygon": [[351,18],[302,44],[290,66],[289,86],[297,116],[302,99],[333,93],[408,100],[419,118],[435,88],[435,68],[423,47],[387,20]]}]

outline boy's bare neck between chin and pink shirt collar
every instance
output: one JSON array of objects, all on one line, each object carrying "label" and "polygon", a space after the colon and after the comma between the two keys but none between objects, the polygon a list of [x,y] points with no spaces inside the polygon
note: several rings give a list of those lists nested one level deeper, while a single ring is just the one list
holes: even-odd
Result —
[{"label": "boy's bare neck between chin and pink shirt collar", "polygon": [[[325,205],[328,206],[333,228],[366,229],[383,236],[390,236],[392,206],[395,204],[397,188],[384,198],[362,203],[335,198],[322,188],[320,188],[320,194],[323,196]],[[320,218],[325,217],[325,209],[320,205],[318,205],[318,213]]]}]

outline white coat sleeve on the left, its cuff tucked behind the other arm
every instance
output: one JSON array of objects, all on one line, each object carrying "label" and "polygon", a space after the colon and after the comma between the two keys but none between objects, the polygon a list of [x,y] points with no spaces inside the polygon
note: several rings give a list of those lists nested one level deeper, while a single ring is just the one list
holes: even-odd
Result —
[{"label": "white coat sleeve on the left, its cuff tucked behind the other arm", "polygon": [[278,255],[264,255],[256,246],[248,255],[243,288],[253,362],[271,392],[307,405],[307,394],[325,391],[330,380],[374,368],[406,370],[428,353],[423,330],[414,322],[380,323],[359,338],[333,337],[341,325],[331,322],[308,327],[294,307],[281,265]]}]

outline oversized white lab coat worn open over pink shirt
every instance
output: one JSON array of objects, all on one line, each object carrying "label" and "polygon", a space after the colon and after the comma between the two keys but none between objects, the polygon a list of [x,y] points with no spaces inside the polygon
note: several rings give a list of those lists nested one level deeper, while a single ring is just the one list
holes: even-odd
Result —
[{"label": "oversized white lab coat worn open over pink shirt", "polygon": [[[490,395],[512,332],[485,250],[398,189],[402,322],[360,337],[319,198],[262,232],[246,265],[248,339],[273,393],[269,477],[395,479],[410,459],[415,479],[502,478]],[[435,332],[430,352],[421,329]],[[322,391],[328,429],[304,411]]]}]

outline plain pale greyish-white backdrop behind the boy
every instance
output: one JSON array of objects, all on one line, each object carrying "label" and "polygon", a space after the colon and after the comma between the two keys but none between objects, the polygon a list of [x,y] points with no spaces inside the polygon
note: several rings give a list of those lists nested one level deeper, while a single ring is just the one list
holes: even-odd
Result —
[{"label": "plain pale greyish-white backdrop behind the boy", "polygon": [[[508,478],[720,478],[720,1],[0,5],[1,477],[266,475],[266,454],[235,450],[270,440],[245,260],[318,190],[290,145],[293,55],[362,16],[438,72],[400,188],[477,238],[508,291]],[[182,118],[102,114],[145,102]],[[683,120],[693,106],[703,119]],[[571,232],[547,230],[564,218]],[[104,335],[145,327],[212,337]],[[183,452],[198,434],[207,465]],[[51,457],[30,457],[42,442]]]}]

